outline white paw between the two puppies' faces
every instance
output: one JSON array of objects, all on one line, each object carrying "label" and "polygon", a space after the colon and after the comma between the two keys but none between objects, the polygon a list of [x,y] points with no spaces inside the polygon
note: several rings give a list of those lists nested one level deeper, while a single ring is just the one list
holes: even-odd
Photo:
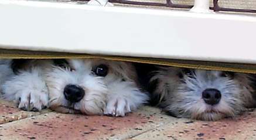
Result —
[{"label": "white paw between the two puppies' faces", "polygon": [[107,103],[104,110],[105,115],[112,115],[115,117],[124,117],[127,112],[131,112],[130,105],[125,98],[113,98]]}]

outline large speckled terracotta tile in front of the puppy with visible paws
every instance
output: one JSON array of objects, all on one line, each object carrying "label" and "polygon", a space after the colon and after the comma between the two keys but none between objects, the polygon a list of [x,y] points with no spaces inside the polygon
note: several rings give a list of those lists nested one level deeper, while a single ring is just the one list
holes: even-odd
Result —
[{"label": "large speckled terracotta tile in front of the puppy with visible paws", "polygon": [[0,125],[0,139],[125,139],[168,121],[160,110],[149,107],[118,118],[50,112]]}]

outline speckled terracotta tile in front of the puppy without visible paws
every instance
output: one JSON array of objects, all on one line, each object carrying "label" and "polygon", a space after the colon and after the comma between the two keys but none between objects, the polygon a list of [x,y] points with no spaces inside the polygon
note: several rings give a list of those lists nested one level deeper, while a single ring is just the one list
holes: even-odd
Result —
[{"label": "speckled terracotta tile in front of the puppy without visible paws", "polygon": [[177,119],[133,139],[256,139],[256,112],[216,122]]}]

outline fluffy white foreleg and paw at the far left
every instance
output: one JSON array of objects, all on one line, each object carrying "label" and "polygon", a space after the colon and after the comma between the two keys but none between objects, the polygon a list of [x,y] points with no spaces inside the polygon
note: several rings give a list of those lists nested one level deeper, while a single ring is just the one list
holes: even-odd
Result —
[{"label": "fluffy white foreleg and paw at the far left", "polygon": [[48,104],[48,91],[41,70],[21,71],[2,85],[4,98],[18,103],[23,110],[42,110]]}]

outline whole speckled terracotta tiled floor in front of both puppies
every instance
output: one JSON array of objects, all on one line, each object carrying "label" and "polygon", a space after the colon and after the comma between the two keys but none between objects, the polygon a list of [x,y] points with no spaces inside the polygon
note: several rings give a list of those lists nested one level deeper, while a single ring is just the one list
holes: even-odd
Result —
[{"label": "whole speckled terracotta tiled floor in front of both puppies", "polygon": [[256,139],[256,112],[217,122],[192,121],[142,107],[127,117],[19,111],[0,101],[0,139]]}]

